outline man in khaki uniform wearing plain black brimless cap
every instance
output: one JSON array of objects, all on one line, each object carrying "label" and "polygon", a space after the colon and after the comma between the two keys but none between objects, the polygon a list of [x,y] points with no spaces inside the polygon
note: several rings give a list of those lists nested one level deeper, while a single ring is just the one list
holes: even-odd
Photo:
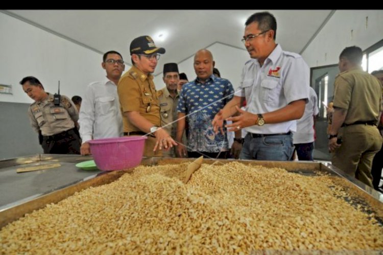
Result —
[{"label": "man in khaki uniform wearing plain black brimless cap", "polygon": [[[167,63],[163,65],[163,82],[166,87],[159,91],[159,101],[161,107],[161,126],[167,133],[171,134],[172,138],[176,138],[177,133],[177,105],[179,93],[177,84],[179,82],[178,66],[176,63]],[[183,144],[186,142],[184,137]],[[185,152],[186,153],[186,152]],[[166,157],[176,157],[175,149],[164,151]]]}]

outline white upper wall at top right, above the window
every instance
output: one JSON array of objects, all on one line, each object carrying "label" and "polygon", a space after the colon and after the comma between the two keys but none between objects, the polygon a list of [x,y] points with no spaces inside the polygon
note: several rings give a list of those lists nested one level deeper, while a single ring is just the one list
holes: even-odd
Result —
[{"label": "white upper wall at top right, above the window", "polygon": [[[353,30],[352,38],[351,30]],[[383,39],[383,11],[336,11],[302,56],[310,67],[336,64],[344,48],[356,45],[365,50],[381,39]]]}]

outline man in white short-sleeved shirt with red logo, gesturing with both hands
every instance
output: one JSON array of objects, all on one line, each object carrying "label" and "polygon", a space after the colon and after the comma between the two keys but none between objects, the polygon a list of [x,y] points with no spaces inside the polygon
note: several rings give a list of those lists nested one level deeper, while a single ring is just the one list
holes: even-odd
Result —
[{"label": "man in white short-sleeved shirt with red logo, gesturing with both hands", "polygon": [[[290,160],[295,120],[308,99],[309,67],[276,44],[277,22],[269,12],[254,13],[245,25],[243,42],[252,59],[243,68],[240,91],[214,117],[214,130],[219,132],[224,119],[233,121],[228,131],[245,128],[240,159]],[[246,111],[240,109],[245,98]],[[240,115],[230,117],[236,112]]]}]

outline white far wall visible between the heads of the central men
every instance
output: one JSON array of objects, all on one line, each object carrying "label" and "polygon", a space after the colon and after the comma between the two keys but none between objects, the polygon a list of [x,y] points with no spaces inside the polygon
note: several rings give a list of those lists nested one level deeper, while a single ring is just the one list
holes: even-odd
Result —
[{"label": "white far wall visible between the heads of the central men", "polygon": [[[234,87],[234,90],[238,87],[241,81],[242,68],[246,61],[250,59],[249,53],[245,50],[229,47],[222,43],[214,43],[210,47],[206,48],[213,54],[213,59],[216,61],[216,67],[219,69],[222,78],[228,79]],[[196,73],[193,67],[194,56],[190,56],[188,59],[178,64],[180,73],[185,73],[189,81],[195,79]],[[162,62],[158,63],[156,72],[163,70]],[[165,86],[162,81],[162,75],[158,75],[154,78],[154,84],[157,89],[161,89]]]}]

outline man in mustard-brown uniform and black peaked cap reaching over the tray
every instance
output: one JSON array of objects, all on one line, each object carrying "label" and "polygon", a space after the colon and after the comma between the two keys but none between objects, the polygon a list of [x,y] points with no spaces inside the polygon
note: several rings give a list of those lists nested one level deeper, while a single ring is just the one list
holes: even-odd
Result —
[{"label": "man in mustard-brown uniform and black peaked cap reaching over the tray", "polygon": [[[150,36],[140,36],[130,43],[133,66],[118,82],[117,92],[121,105],[124,135],[147,135],[144,156],[161,156],[165,150],[177,145],[164,129],[160,128],[160,105],[153,83],[154,69],[159,54],[165,49],[157,48]],[[158,149],[158,150],[157,150]]]}]

